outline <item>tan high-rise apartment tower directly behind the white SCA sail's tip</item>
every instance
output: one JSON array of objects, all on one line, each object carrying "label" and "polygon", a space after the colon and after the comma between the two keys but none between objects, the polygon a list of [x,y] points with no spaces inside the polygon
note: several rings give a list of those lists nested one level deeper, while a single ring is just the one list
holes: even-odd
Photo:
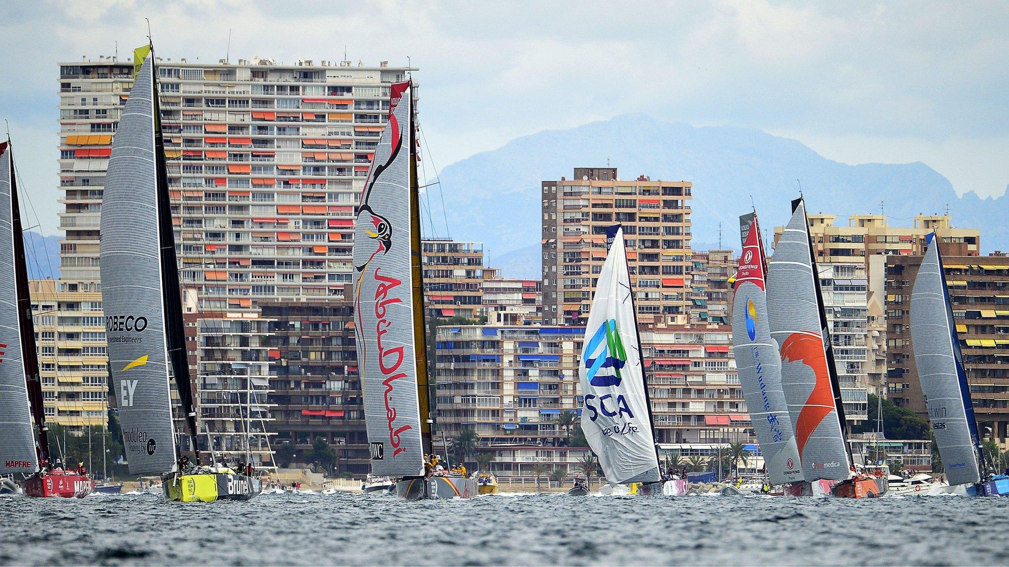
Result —
[{"label": "tan high-rise apartment tower directly behind the white SCA sail's tip", "polygon": [[606,228],[621,224],[639,324],[686,324],[691,191],[690,182],[622,181],[616,167],[575,167],[572,180],[542,182],[544,323],[585,324]]}]

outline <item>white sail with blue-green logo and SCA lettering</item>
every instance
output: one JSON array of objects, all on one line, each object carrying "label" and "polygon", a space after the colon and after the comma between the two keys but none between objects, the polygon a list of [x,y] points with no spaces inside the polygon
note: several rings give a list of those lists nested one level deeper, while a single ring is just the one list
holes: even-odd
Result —
[{"label": "white sail with blue-green logo and SCA lettering", "polygon": [[661,479],[638,344],[624,230],[618,229],[595,286],[581,350],[581,428],[612,484]]}]

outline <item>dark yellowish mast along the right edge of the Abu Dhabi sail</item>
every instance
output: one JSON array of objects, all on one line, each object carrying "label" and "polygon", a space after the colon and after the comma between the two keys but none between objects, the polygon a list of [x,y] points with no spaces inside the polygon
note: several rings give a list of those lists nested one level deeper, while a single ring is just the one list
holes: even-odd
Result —
[{"label": "dark yellowish mast along the right edge of the Abu Dhabi sail", "polygon": [[[424,317],[424,266],[421,243],[421,201],[417,181],[417,127],[414,112],[414,84],[410,83],[410,271],[413,274],[414,353],[417,356],[417,402],[421,410],[421,441],[424,453],[433,452],[431,391],[428,379],[428,334]],[[448,455],[446,455],[447,457]]]}]

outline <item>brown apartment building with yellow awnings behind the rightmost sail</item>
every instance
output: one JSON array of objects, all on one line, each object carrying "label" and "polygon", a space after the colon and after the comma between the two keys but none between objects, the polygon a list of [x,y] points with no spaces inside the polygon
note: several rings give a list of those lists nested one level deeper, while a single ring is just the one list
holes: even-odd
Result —
[{"label": "brown apartment building with yellow awnings behind the rightmost sail", "polygon": [[[944,253],[944,250],[940,248]],[[887,393],[927,419],[911,345],[911,291],[922,256],[886,266]],[[943,255],[949,303],[981,435],[1005,443],[1009,431],[1009,257]]]}]

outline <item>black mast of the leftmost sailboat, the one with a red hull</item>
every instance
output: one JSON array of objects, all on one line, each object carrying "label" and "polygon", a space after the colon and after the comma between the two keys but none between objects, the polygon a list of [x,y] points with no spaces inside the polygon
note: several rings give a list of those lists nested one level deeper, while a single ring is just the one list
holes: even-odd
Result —
[{"label": "black mast of the leftmost sailboat, the one with a red hull", "polygon": [[[2,148],[0,148],[2,149]],[[14,235],[14,285],[17,297],[17,315],[21,335],[21,360],[24,363],[24,379],[28,388],[28,405],[35,421],[36,442],[42,459],[49,459],[49,428],[45,426],[45,409],[42,406],[42,382],[38,376],[38,351],[35,348],[35,323],[31,317],[31,298],[28,293],[28,268],[24,252],[24,228],[21,222],[21,208],[17,198],[17,176],[14,169],[14,153],[7,138],[10,153],[10,201],[12,232]],[[39,463],[41,465],[41,463]]]}]

